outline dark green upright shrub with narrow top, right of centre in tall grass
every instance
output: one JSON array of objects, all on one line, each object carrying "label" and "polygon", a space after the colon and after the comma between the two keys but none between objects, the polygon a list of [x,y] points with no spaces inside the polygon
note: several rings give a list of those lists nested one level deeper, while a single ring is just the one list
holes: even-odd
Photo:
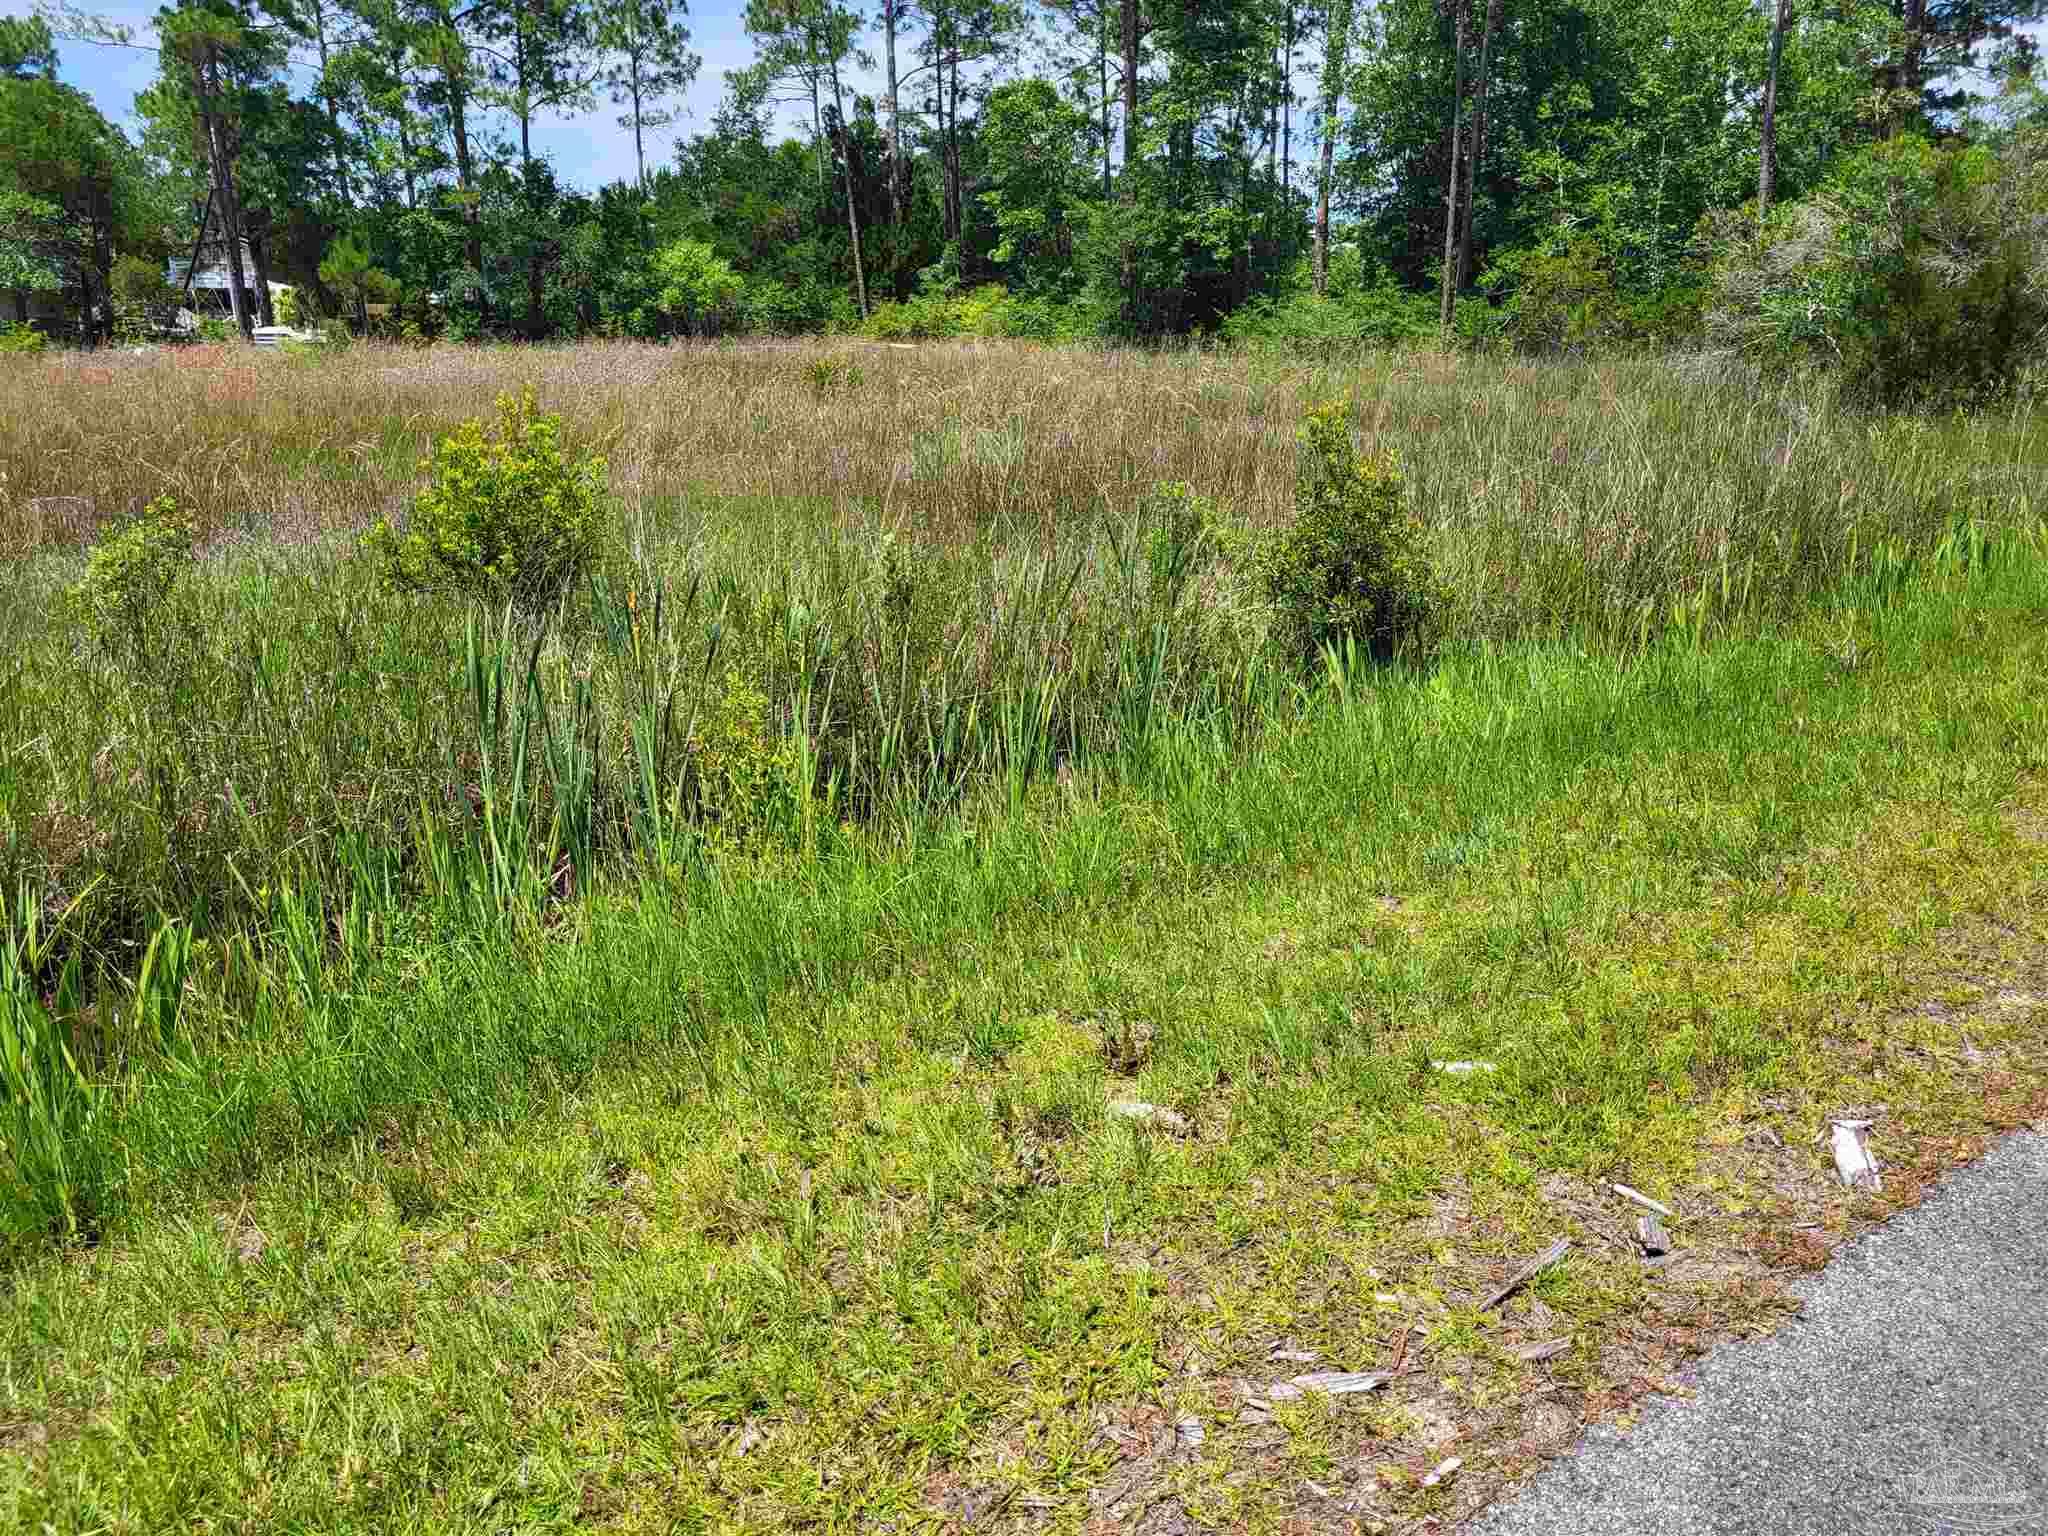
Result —
[{"label": "dark green upright shrub with narrow top, right of centre in tall grass", "polygon": [[1448,602],[1401,471],[1391,455],[1360,457],[1348,401],[1309,410],[1296,442],[1294,520],[1260,551],[1280,639],[1311,662],[1346,641],[1386,657],[1423,637]]}]

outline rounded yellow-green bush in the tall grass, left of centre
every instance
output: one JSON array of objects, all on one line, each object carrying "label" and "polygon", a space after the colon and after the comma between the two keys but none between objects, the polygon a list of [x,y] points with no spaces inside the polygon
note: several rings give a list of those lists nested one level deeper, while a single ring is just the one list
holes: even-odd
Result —
[{"label": "rounded yellow-green bush in the tall grass, left of centre", "polygon": [[387,586],[545,610],[590,569],[604,539],[604,459],[563,446],[561,418],[532,389],[498,399],[498,426],[469,420],[434,444],[406,530],[367,537]]}]

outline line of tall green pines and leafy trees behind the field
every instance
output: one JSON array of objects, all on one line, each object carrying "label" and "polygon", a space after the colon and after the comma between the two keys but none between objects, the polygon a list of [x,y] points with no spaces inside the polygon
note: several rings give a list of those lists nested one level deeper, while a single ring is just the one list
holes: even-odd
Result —
[{"label": "line of tall green pines and leafy trees behind the field", "polygon": [[[135,39],[51,8],[0,20],[0,289],[98,340],[215,242],[244,332],[270,283],[307,319],[526,340],[1368,336],[1593,301],[1655,330],[1696,313],[1716,217],[2032,111],[2044,10],[750,0],[750,63],[672,139],[682,0],[182,0],[135,135],[57,80],[63,37]],[[535,127],[602,117],[635,174],[567,184]]]}]

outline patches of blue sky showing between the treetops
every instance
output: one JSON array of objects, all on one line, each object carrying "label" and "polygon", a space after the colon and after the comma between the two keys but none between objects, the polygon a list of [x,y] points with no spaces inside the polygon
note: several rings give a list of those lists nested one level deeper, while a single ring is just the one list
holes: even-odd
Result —
[{"label": "patches of blue sky showing between the treetops", "polygon": [[[109,20],[135,29],[137,43],[154,43],[150,27],[160,0],[113,0],[84,8]],[[25,14],[31,6],[20,0],[0,0],[0,14]],[[696,84],[678,102],[678,121],[649,135],[647,164],[664,164],[670,145],[678,137],[702,133],[711,127],[719,96],[725,92],[725,72],[752,61],[745,33],[739,29],[739,12],[745,0],[694,0],[690,6],[690,47],[705,59],[696,74]],[[57,72],[70,84],[92,94],[106,117],[135,129],[135,92],[156,78],[156,53],[129,47],[102,47],[92,43],[57,41]],[[309,53],[309,49],[299,49]],[[311,70],[301,72],[301,84],[311,80]],[[872,84],[862,82],[864,90]],[[633,133],[614,123],[618,109],[602,96],[598,111],[578,119],[543,119],[535,125],[535,147],[553,160],[555,170],[582,186],[600,186],[612,180],[633,178]]]}]

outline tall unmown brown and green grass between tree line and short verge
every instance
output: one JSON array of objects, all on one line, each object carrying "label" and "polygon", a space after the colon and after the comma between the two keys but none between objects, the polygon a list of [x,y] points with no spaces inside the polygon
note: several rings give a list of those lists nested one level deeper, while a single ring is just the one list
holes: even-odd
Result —
[{"label": "tall unmown brown and green grass between tree line and short verge", "polygon": [[[520,385],[606,455],[618,553],[539,649],[487,631],[471,653],[463,608],[379,592],[352,535],[403,510],[438,432]],[[1821,387],[1647,358],[754,342],[25,360],[0,369],[0,885],[49,909],[92,891],[80,930],[117,954],[199,905],[258,920],[264,891],[342,864],[424,879],[418,838],[471,836],[494,797],[549,874],[664,842],[719,793],[754,836],[915,819],[1163,721],[1245,739],[1288,680],[1231,551],[1286,516],[1307,403],[1346,393],[1364,444],[1403,461],[1452,623],[1481,639],[1786,612],[1958,518],[2042,504],[2028,410],[1874,420]],[[1174,590],[1161,481],[1227,504],[1241,535]],[[205,557],[156,651],[117,657],[59,592],[96,526],[158,496]],[[485,672],[530,696],[516,729],[479,725]],[[791,774],[795,809],[768,782]]]}]

